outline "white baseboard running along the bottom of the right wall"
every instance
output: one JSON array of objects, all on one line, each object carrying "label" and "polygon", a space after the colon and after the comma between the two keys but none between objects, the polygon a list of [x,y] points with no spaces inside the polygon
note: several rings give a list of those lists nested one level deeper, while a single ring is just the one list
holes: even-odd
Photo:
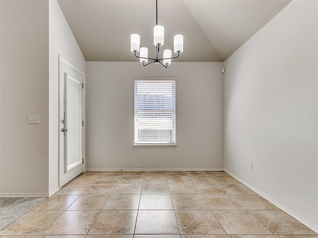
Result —
[{"label": "white baseboard running along the bottom of the right wall", "polygon": [[281,209],[282,211],[286,212],[288,215],[290,215],[291,217],[295,218],[297,221],[299,221],[300,223],[302,223],[303,225],[305,225],[306,227],[308,227],[309,229],[311,229],[312,231],[318,233],[318,227],[317,224],[314,225],[308,221],[305,221],[304,219],[300,218],[299,216],[295,215],[293,212],[291,212],[288,208],[286,208],[284,205],[276,202],[274,199],[272,199],[271,197],[267,196],[266,194],[262,193],[261,191],[259,191],[257,188],[253,187],[252,185],[250,185],[249,183],[245,182],[244,180],[240,179],[239,177],[237,177],[236,175],[232,174],[230,171],[224,169],[224,172],[226,172],[227,174],[231,175],[234,179],[239,180],[241,183],[243,183],[246,187],[250,188],[251,190],[253,190],[254,192],[256,192],[258,195],[260,195],[261,197],[265,198],[267,201],[269,201],[270,203],[274,204],[276,207],[278,207],[279,209]]}]

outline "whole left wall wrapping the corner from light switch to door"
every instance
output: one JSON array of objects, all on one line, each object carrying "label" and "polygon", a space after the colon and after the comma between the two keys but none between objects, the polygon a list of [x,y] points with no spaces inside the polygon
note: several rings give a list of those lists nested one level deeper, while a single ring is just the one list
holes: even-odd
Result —
[{"label": "whole left wall wrapping the corner from light switch to door", "polygon": [[[59,56],[85,60],[56,0],[0,1],[0,195],[59,188]],[[40,124],[27,124],[40,115]]]}]

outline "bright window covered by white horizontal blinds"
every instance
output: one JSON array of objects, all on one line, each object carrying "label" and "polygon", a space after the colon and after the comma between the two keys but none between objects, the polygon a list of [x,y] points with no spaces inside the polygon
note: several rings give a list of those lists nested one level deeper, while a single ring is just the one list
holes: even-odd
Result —
[{"label": "bright window covered by white horizontal blinds", "polygon": [[135,77],[135,145],[175,145],[174,77]]}]

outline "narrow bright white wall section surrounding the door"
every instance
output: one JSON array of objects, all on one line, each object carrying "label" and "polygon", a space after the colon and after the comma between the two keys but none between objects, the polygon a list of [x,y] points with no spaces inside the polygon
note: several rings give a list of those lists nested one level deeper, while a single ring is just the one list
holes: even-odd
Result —
[{"label": "narrow bright white wall section surrounding the door", "polygon": [[82,72],[85,59],[57,0],[50,0],[49,6],[49,194],[52,194],[59,189],[59,56]]}]

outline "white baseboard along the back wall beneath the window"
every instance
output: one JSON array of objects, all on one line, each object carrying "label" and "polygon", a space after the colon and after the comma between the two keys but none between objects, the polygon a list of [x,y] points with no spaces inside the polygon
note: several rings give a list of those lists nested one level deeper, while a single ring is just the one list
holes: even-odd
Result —
[{"label": "white baseboard along the back wall beneath the window", "polygon": [[153,169],[153,168],[123,168],[123,169],[86,169],[86,171],[94,172],[94,171],[224,171],[224,168],[159,168],[159,169]]}]

